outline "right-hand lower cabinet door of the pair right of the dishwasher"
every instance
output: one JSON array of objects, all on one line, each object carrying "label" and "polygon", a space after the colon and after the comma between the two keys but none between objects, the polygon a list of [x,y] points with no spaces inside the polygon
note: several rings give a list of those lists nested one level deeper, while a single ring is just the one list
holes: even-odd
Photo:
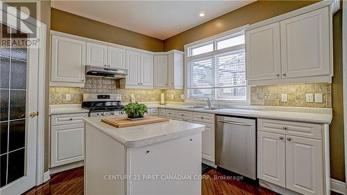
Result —
[{"label": "right-hand lower cabinet door of the pair right of the dishwasher", "polygon": [[321,140],[287,135],[287,188],[301,194],[323,194]]}]

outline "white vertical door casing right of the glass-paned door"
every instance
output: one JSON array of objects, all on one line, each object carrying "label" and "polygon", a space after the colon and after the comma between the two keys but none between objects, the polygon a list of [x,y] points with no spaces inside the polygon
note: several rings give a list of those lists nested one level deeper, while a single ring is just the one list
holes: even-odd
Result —
[{"label": "white vertical door casing right of the glass-paned door", "polygon": [[37,97],[37,147],[36,147],[36,185],[44,183],[44,97],[45,97],[45,75],[46,75],[46,24],[40,22],[40,53],[38,66],[38,97]]}]

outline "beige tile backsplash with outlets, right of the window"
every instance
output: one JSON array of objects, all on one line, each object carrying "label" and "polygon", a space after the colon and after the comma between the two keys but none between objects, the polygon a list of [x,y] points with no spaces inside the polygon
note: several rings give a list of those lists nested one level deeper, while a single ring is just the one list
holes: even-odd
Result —
[{"label": "beige tile backsplash with outlets, right of the window", "polygon": [[[287,94],[287,102],[282,102]],[[323,103],[306,102],[306,94],[323,94]],[[251,105],[332,108],[331,84],[280,84],[251,86]]]}]

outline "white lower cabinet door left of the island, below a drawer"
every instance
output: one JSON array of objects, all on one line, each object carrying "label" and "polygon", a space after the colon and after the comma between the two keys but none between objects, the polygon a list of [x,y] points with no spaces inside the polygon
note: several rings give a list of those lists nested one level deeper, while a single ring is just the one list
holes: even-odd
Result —
[{"label": "white lower cabinet door left of the island, below a drawer", "polygon": [[51,127],[51,167],[84,160],[85,124]]}]

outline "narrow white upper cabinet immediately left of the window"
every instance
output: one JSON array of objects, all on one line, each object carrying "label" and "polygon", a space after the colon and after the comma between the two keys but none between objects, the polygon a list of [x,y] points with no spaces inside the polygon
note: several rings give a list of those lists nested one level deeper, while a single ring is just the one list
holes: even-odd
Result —
[{"label": "narrow white upper cabinet immediately left of the window", "polygon": [[168,85],[169,89],[183,90],[184,85],[184,71],[183,53],[180,51],[174,51],[168,55]]}]

